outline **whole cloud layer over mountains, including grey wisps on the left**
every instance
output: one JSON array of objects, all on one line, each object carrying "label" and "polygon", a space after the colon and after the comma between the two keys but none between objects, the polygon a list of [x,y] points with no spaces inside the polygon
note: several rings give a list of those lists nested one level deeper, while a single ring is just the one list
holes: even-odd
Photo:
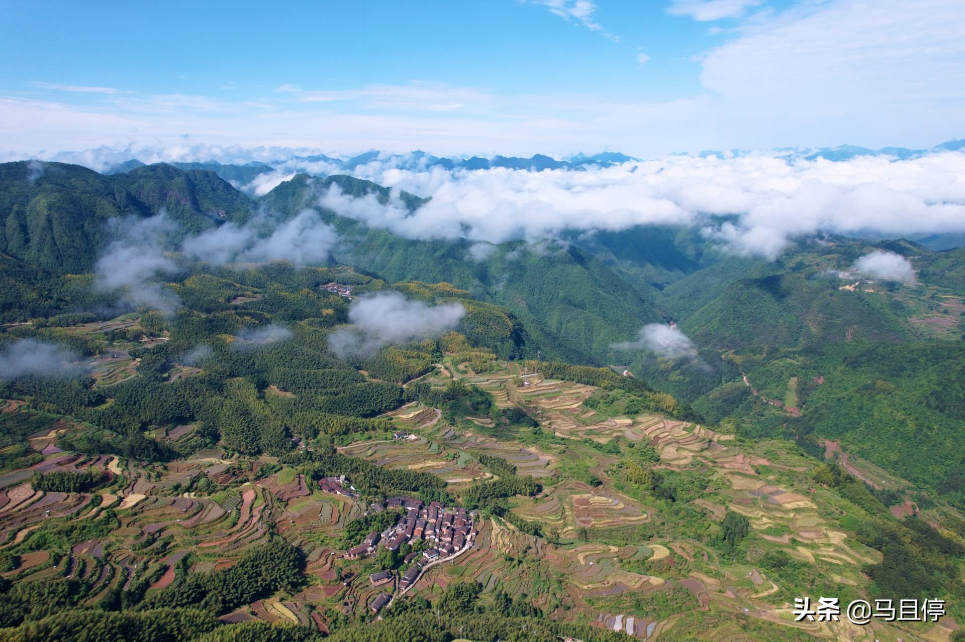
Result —
[{"label": "whole cloud layer over mountains, including grey wisps on the left", "polygon": [[[353,159],[350,168],[345,160],[325,155],[290,156],[276,158],[275,171],[240,187],[257,197],[301,172],[370,179],[395,188],[397,198],[383,204],[333,187],[320,195],[318,204],[414,239],[537,241],[666,224],[700,228],[737,254],[775,258],[795,237],[822,231],[889,237],[965,231],[965,151],[954,146],[952,142],[946,144],[950,149],[902,150],[896,155],[860,148],[713,152],[540,172],[447,169],[422,153],[372,153]],[[205,150],[238,161],[293,151],[205,147],[165,153],[185,158]],[[830,160],[836,153],[845,160]],[[431,199],[410,212],[398,190]],[[306,212],[267,240],[263,229],[257,221],[245,227],[225,225],[187,242],[184,250],[216,263],[275,258],[314,262],[336,242],[334,231]],[[472,257],[484,258],[486,246],[474,247]]]}]

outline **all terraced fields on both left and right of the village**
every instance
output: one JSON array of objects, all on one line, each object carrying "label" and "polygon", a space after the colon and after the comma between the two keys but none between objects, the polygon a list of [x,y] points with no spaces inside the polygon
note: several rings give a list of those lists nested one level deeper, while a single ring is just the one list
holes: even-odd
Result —
[{"label": "all terraced fields on both left and right of the village", "polygon": [[[339,452],[382,468],[429,472],[456,497],[499,478],[483,464],[483,455],[494,455],[542,489],[511,497],[502,517],[483,513],[474,546],[429,566],[414,593],[432,597],[454,582],[477,581],[483,603],[506,591],[525,596],[549,617],[646,640],[694,636],[700,620],[693,613],[712,616],[719,639],[741,639],[740,623],[748,618],[826,639],[950,639],[950,618],[941,626],[899,628],[793,622],[791,602],[798,595],[862,595],[868,586],[863,570],[881,556],[856,538],[848,519],[853,506],[815,486],[813,460],[786,442],[744,442],[659,415],[604,417],[584,406],[597,388],[545,380],[513,364],[485,375],[465,365],[440,365],[422,381],[443,386],[452,377],[492,394],[497,411],[524,409],[537,417],[539,429],[496,435],[492,420],[469,416],[454,425],[439,409],[414,402],[385,415],[406,437],[354,441]],[[164,465],[47,451],[70,429],[56,424],[32,437],[32,447],[46,452],[42,460],[0,477],[0,552],[14,554],[14,568],[4,577],[80,579],[90,583],[85,603],[94,605],[142,580],[152,594],[184,575],[230,569],[277,533],[304,553],[303,585],[246,604],[223,621],[259,619],[324,631],[345,614],[361,617],[380,594],[401,599],[398,572],[389,584],[373,587],[368,575],[379,569],[373,557],[345,556],[342,535],[347,524],[371,512],[366,499],[322,493],[304,469],[277,466],[269,457],[240,460],[220,448]],[[177,441],[193,429],[170,426],[154,437]],[[673,501],[629,482],[623,472],[626,461],[647,447],[659,455],[653,474],[696,480],[679,482]],[[93,493],[45,493],[30,484],[37,472],[95,468],[108,471],[112,481]],[[199,488],[200,478],[211,492],[183,490]],[[749,522],[739,555],[715,544],[728,513]],[[92,529],[80,542],[36,537],[54,525],[108,518],[116,525]],[[802,564],[800,577],[765,566],[768,554]]]}]

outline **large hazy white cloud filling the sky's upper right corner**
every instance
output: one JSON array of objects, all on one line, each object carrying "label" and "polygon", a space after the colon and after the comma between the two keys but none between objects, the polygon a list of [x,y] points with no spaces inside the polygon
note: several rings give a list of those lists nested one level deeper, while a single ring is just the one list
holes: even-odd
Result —
[{"label": "large hazy white cloud filling the sky's upper right corner", "polygon": [[963,34],[958,0],[803,3],[712,50],[701,81],[718,95],[718,126],[793,123],[820,145],[938,141],[960,135],[950,125],[965,115]]}]

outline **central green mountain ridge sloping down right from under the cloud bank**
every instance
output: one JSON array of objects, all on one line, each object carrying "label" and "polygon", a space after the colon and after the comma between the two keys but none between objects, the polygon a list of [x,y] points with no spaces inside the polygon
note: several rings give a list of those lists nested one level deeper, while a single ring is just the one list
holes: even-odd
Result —
[{"label": "central green mountain ridge sloping down right from under the cloud bank", "polygon": [[[473,260],[467,241],[406,239],[318,207],[319,190],[332,184],[356,197],[389,197],[386,188],[357,178],[329,176],[319,181],[299,175],[260,202],[286,216],[305,207],[317,209],[345,239],[334,251],[340,262],[389,281],[448,281],[509,308],[528,326],[546,356],[602,362],[611,343],[663,318],[655,302],[641,293],[652,288],[634,286],[583,249],[517,241],[498,246],[481,261]],[[410,207],[424,202],[405,193],[401,199]]]}]

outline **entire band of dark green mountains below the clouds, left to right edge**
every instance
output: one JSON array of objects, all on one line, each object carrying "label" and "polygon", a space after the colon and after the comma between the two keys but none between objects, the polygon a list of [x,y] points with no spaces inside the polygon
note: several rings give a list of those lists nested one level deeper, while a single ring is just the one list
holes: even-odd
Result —
[{"label": "entire band of dark green mountains below the clouds, left to right edge", "polygon": [[[44,270],[82,273],[109,240],[104,224],[118,217],[143,219],[163,209],[181,233],[196,234],[241,223],[257,210],[286,220],[312,208],[338,232],[333,253],[340,262],[389,281],[452,282],[512,309],[531,334],[545,336],[547,350],[571,360],[606,362],[610,344],[661,320],[678,321],[702,347],[716,349],[845,336],[905,340],[917,332],[900,300],[848,296],[829,276],[875,247],[868,243],[805,242],[770,263],[723,254],[694,230],[633,227],[572,241],[510,241],[474,258],[464,240],[403,238],[327,210],[318,196],[333,185],[354,198],[390,197],[387,188],[345,175],[299,174],[253,201],[203,170],[152,165],[102,176],[56,163],[3,164],[0,252]],[[425,202],[404,192],[398,198],[409,209]],[[879,245],[912,255],[923,282],[960,289],[962,250]]]}]

